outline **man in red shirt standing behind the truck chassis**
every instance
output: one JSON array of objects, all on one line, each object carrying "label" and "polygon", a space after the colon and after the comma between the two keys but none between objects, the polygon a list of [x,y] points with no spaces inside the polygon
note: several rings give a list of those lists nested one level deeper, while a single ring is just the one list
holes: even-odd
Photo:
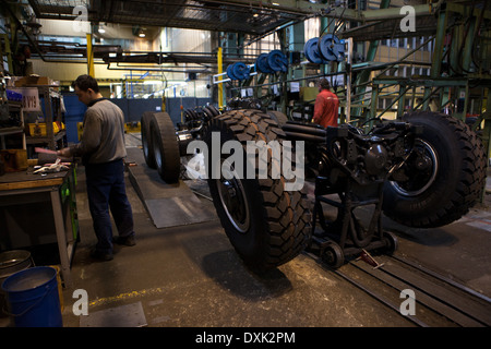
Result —
[{"label": "man in red shirt standing behind the truck chassis", "polygon": [[319,123],[323,128],[337,127],[338,109],[339,99],[331,92],[330,82],[326,79],[321,79],[312,122]]}]

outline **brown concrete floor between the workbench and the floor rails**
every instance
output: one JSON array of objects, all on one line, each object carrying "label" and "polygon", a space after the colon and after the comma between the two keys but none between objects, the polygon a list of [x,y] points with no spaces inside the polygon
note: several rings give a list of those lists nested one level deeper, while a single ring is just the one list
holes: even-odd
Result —
[{"label": "brown concrete floor between the workbench and the floor rails", "polygon": [[128,192],[137,244],[116,246],[110,262],[89,257],[96,240],[84,214],[83,192],[77,196],[82,241],[72,264],[73,286],[63,294],[64,326],[86,324],[72,313],[74,289],[87,291],[89,314],[141,302],[153,327],[408,325],[397,314],[380,312],[376,301],[306,255],[267,275],[255,275],[242,264],[217,218],[157,229],[129,182]]}]

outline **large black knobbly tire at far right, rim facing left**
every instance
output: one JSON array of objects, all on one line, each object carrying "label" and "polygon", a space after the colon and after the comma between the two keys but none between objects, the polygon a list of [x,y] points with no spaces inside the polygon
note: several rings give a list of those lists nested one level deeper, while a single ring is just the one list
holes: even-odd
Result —
[{"label": "large black knobbly tire at far right, rim facing left", "polygon": [[484,186],[481,141],[464,122],[446,115],[420,111],[404,120],[422,125],[423,131],[405,165],[408,179],[385,185],[384,214],[416,228],[459,219],[478,202]]}]

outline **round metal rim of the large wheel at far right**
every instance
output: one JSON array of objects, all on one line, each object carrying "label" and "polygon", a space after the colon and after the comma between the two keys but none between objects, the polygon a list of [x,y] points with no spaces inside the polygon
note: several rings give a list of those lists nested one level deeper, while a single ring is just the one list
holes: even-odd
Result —
[{"label": "round metal rim of the large wheel at far right", "polygon": [[436,152],[433,146],[420,139],[415,140],[415,149],[418,153],[416,155],[417,161],[419,164],[423,163],[421,166],[426,168],[423,170],[411,169],[408,172],[410,178],[405,182],[391,181],[391,185],[395,189],[397,193],[404,196],[417,196],[423,193],[428,188],[430,188],[436,178],[439,171],[439,160]]}]

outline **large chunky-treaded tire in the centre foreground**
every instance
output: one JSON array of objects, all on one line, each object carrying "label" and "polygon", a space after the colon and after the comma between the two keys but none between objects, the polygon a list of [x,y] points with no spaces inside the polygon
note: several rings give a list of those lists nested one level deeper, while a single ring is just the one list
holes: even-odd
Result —
[{"label": "large chunky-treaded tire in the centre foreground", "polygon": [[[230,140],[239,141],[243,152],[246,176],[248,141],[282,142],[285,134],[276,121],[259,110],[232,110],[212,119],[204,140],[212,153],[212,134],[220,135],[220,146]],[[220,152],[221,153],[221,152]],[[220,156],[220,164],[230,155]],[[283,149],[282,149],[283,156]],[[258,163],[259,155],[255,154]],[[207,160],[208,184],[217,215],[231,244],[246,264],[254,270],[279,266],[297,256],[311,237],[311,213],[302,191],[286,191],[286,179],[272,176],[267,163],[267,178],[243,179],[232,167],[233,178],[212,178],[212,157]],[[258,173],[258,170],[256,170]]]}]

